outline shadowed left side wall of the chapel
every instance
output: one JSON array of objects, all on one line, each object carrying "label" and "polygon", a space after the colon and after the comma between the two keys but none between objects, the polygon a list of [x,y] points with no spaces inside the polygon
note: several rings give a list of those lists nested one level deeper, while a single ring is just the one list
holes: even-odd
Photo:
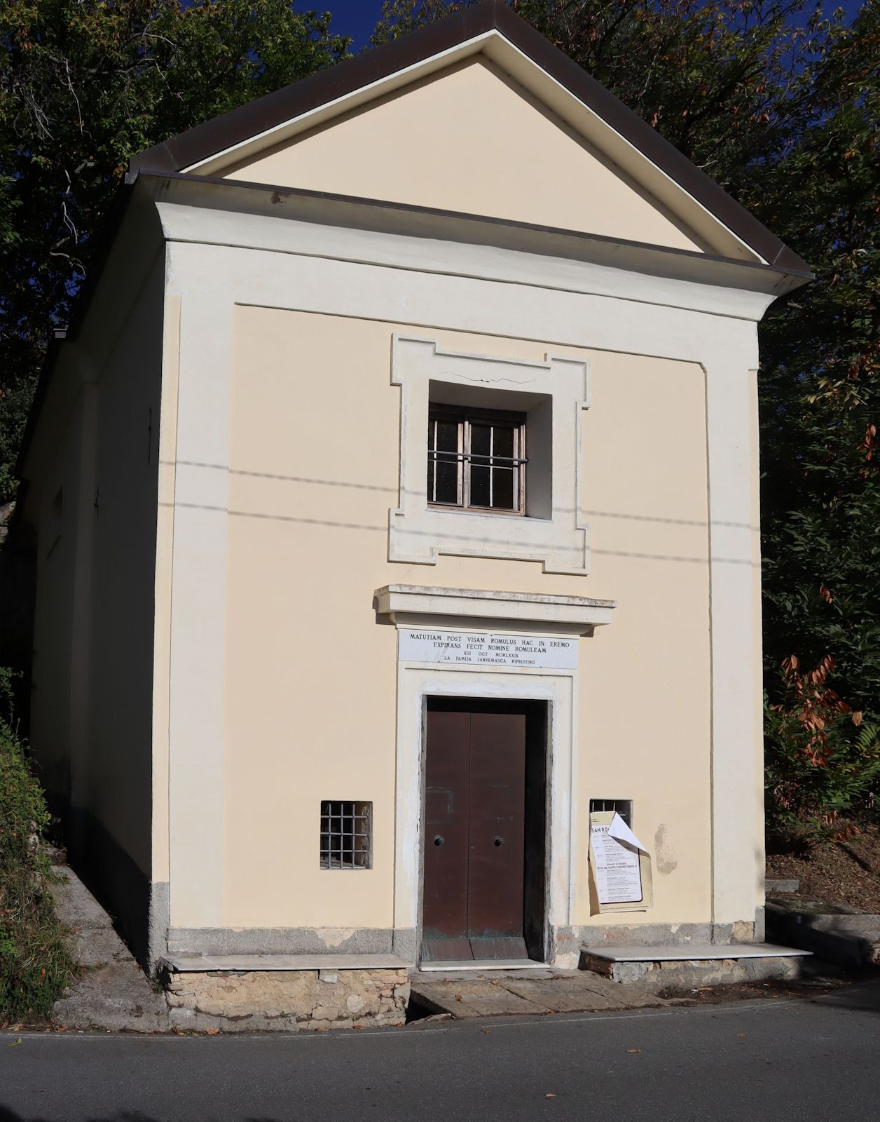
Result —
[{"label": "shadowed left side wall of the chapel", "polygon": [[158,254],[130,303],[113,307],[106,287],[99,293],[101,314],[62,349],[67,369],[56,374],[78,377],[78,396],[66,416],[59,408],[41,419],[58,434],[30,485],[38,565],[34,751],[72,863],[139,954],[151,881],[163,289]]}]

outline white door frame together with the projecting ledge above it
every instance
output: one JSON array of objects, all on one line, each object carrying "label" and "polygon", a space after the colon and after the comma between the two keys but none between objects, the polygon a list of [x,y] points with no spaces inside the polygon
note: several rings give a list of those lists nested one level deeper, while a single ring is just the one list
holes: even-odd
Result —
[{"label": "white door frame together with the projecting ledge above it", "polygon": [[[466,627],[507,634],[592,635],[611,623],[614,601],[457,588],[391,585],[374,594],[378,616],[398,628]],[[571,669],[444,665],[398,657],[395,810],[393,949],[415,963],[422,946],[422,870],[425,845],[426,711],[428,697],[543,701],[547,706],[547,848],[545,960],[577,965],[566,939],[577,889],[577,674]],[[565,944],[562,950],[559,942]]]}]

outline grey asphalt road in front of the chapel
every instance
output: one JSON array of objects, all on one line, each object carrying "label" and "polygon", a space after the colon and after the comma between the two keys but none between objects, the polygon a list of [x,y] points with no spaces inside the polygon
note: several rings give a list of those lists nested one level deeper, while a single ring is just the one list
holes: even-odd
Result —
[{"label": "grey asphalt road in front of the chapel", "polygon": [[880,983],[263,1037],[0,1033],[0,1122],[880,1119]]}]

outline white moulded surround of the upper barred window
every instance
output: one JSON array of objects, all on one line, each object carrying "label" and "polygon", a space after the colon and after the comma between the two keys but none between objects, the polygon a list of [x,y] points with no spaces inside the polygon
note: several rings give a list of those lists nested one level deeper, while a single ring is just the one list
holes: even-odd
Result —
[{"label": "white moulded surround of the upper barred window", "polygon": [[[430,383],[539,395],[552,403],[549,473],[544,489],[549,517],[429,507],[427,431]],[[443,350],[435,339],[395,334],[391,384],[400,386],[399,505],[389,512],[388,558],[436,564],[441,553],[541,561],[545,572],[586,576],[589,527],[581,521],[581,411],[589,408],[589,367],[582,359],[547,355],[544,362]],[[524,404],[528,401],[524,396]],[[527,408],[518,412],[527,413]],[[528,422],[527,422],[528,423]],[[534,442],[532,442],[534,447]],[[529,486],[535,490],[532,481]],[[499,521],[500,519],[500,521]]]}]

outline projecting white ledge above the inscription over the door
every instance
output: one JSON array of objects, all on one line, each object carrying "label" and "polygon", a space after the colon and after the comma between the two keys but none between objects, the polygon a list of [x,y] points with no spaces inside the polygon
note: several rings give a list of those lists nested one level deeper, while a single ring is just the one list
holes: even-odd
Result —
[{"label": "projecting white ledge above the inscription over the door", "polygon": [[376,610],[398,627],[483,623],[510,629],[525,627],[568,635],[592,635],[610,624],[615,600],[586,596],[550,596],[472,588],[386,585],[373,592]]}]

